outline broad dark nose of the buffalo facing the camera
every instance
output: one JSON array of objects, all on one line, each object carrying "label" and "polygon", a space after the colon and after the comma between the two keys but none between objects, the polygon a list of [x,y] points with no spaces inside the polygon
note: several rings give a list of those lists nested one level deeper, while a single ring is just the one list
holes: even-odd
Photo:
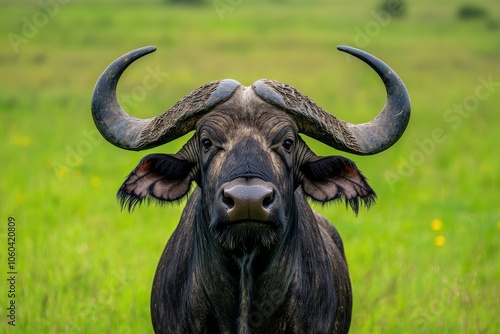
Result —
[{"label": "broad dark nose of the buffalo facing the camera", "polygon": [[222,207],[230,221],[267,221],[275,203],[274,189],[267,184],[228,184],[223,188]]}]

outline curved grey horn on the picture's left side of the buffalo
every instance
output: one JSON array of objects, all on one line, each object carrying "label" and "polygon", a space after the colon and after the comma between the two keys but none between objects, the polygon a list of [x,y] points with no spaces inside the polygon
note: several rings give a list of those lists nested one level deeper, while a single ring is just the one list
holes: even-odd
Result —
[{"label": "curved grey horn on the picture's left side of the buffalo", "polygon": [[148,46],[131,51],[108,66],[97,80],[92,96],[92,116],[97,129],[111,144],[127,150],[144,150],[168,143],[194,130],[196,121],[229,99],[241,84],[214,81],[193,91],[163,114],[139,119],[128,115],[118,103],[116,86],[125,69],[154,52]]}]

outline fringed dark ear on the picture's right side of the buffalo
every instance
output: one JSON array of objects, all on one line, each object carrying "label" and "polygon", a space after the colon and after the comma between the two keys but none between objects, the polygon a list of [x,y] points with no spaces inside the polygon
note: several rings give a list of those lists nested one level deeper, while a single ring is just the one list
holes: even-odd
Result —
[{"label": "fringed dark ear on the picture's right side of the buffalo", "polygon": [[313,157],[302,167],[302,188],[312,199],[325,203],[344,199],[357,214],[359,202],[370,207],[377,195],[354,162],[340,156]]}]

